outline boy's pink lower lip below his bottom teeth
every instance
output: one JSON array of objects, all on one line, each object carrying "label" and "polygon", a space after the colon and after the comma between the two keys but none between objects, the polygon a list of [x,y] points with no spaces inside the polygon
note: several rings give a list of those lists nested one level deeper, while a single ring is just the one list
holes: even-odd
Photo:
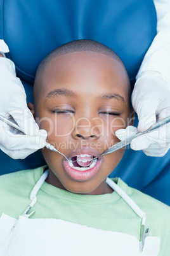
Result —
[{"label": "boy's pink lower lip below his bottom teeth", "polygon": [[95,174],[98,172],[98,169],[101,166],[101,160],[98,160],[95,166],[91,169],[88,169],[87,171],[79,171],[79,170],[73,169],[72,167],[69,166],[69,163],[67,160],[64,160],[63,166],[67,175],[69,175],[73,180],[86,181],[93,178],[93,176],[95,176]]}]

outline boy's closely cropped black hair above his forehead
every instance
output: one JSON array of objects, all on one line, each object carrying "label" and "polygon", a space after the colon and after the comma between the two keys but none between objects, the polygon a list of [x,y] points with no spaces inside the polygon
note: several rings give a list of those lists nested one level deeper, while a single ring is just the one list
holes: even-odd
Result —
[{"label": "boy's closely cropped black hair above his forehead", "polygon": [[65,55],[67,53],[72,53],[72,52],[87,52],[87,51],[103,53],[105,55],[112,57],[113,59],[117,60],[119,64],[121,64],[122,68],[128,75],[128,72],[126,71],[126,68],[122,60],[113,50],[111,50],[106,45],[103,45],[102,43],[99,43],[97,41],[93,41],[90,39],[79,39],[79,40],[70,41],[69,43],[60,45],[58,46],[58,48],[55,48],[55,50],[50,52],[39,64],[39,67],[37,68],[36,76],[40,75],[41,72],[44,70],[46,64],[48,64],[55,57]]}]

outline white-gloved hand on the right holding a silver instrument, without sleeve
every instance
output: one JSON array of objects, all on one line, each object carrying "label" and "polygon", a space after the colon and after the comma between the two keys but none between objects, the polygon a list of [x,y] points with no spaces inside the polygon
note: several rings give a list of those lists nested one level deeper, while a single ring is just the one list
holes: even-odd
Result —
[{"label": "white-gloved hand on the right holding a silver instrument, without sleeve", "polygon": [[[138,129],[127,127],[115,132],[124,140],[136,132],[147,131],[155,122],[170,115],[170,90],[160,73],[145,71],[134,85],[132,94],[134,111],[138,115]],[[131,141],[133,150],[143,150],[148,156],[162,157],[170,148],[170,124],[143,134]]]}]

